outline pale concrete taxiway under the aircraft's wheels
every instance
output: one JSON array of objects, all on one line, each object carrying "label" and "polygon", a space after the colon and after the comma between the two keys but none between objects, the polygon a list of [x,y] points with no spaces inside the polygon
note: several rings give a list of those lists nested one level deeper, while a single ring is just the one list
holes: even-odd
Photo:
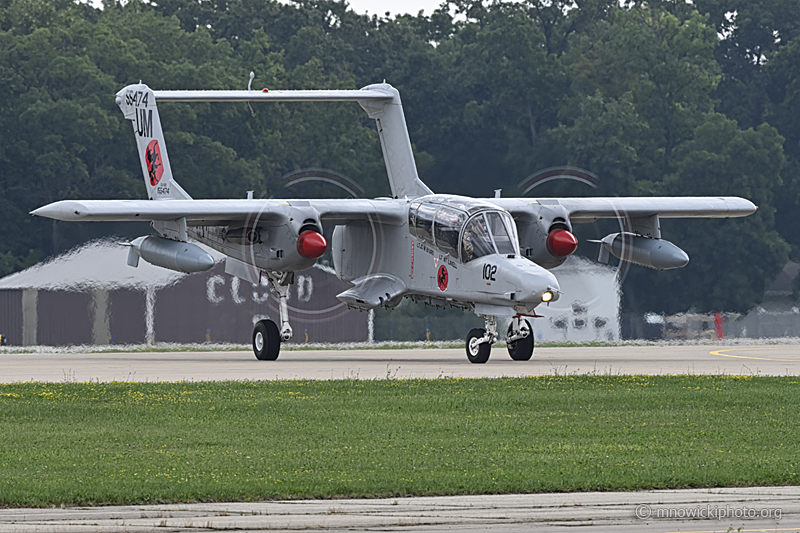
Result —
[{"label": "pale concrete taxiway under the aircraft's wheels", "polygon": [[412,379],[548,374],[798,375],[798,345],[657,345],[536,348],[513,361],[505,348],[486,364],[463,349],[284,350],[277,361],[250,351],[0,352],[0,383],[19,381],[207,381],[270,379]]}]

